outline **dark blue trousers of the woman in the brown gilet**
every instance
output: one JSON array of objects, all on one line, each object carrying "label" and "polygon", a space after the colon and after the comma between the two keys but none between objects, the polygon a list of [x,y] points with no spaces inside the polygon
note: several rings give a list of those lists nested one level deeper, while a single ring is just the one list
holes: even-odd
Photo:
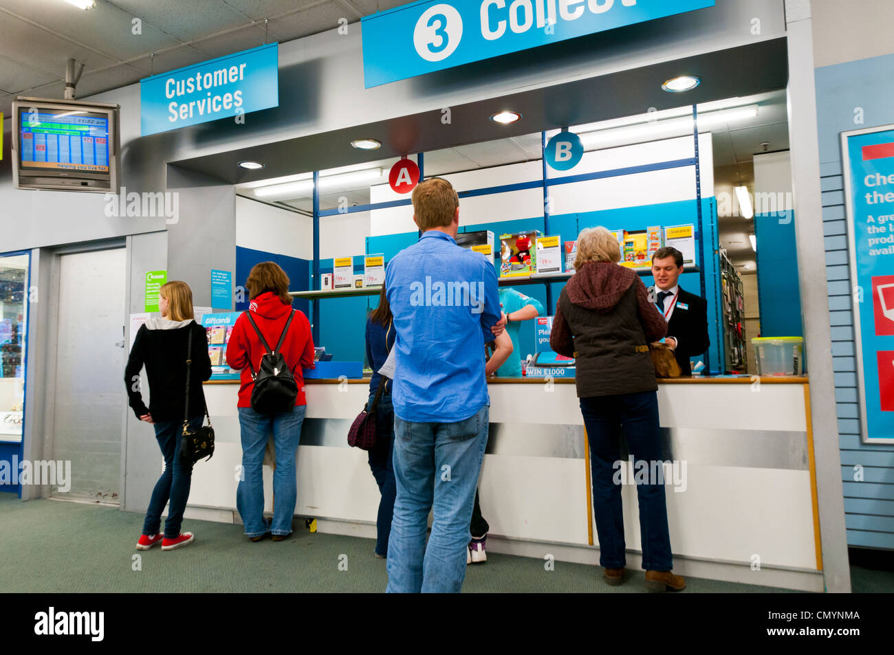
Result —
[{"label": "dark blue trousers of the woman in the brown gilet", "polygon": [[[580,399],[586,436],[590,443],[590,468],[593,473],[593,513],[599,535],[599,563],[605,568],[626,564],[624,516],[621,509],[621,485],[614,483],[620,462],[620,433],[627,437],[628,449],[637,463],[662,460],[658,424],[658,392],[621,393]],[[626,462],[624,463],[627,466]],[[646,476],[648,477],[648,476]],[[634,478],[637,479],[636,477]],[[652,482],[650,484],[650,482]],[[643,544],[643,568],[646,571],[670,571],[671,536],[664,503],[664,484],[637,481],[639,532]]]}]

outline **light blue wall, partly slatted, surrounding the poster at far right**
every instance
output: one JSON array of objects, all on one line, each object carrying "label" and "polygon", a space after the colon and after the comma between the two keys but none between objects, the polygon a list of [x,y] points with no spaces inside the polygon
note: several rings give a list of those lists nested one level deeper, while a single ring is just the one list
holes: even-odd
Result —
[{"label": "light blue wall, partly slatted, surrounding the poster at far right", "polygon": [[[894,122],[894,55],[816,69],[822,230],[848,544],[894,549],[894,445],[860,441],[848,225],[839,133]],[[860,108],[864,122],[855,123]],[[763,317],[762,317],[763,318]],[[854,480],[863,466],[864,481]]]}]

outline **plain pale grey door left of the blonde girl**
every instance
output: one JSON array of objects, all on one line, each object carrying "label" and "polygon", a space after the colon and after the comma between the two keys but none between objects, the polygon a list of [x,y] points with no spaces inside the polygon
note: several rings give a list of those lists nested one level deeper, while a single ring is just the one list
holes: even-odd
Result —
[{"label": "plain pale grey door left of the blonde girl", "polygon": [[59,258],[54,459],[71,461],[59,498],[117,502],[121,474],[124,248]]}]

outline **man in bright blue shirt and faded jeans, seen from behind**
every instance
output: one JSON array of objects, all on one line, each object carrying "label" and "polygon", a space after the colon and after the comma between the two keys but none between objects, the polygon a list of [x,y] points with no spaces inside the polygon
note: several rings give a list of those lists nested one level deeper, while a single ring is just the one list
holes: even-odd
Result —
[{"label": "man in bright blue shirt and faded jeans, seen from behind", "polygon": [[413,189],[413,220],[422,236],[385,271],[397,332],[387,591],[460,592],[487,445],[485,341],[505,318],[493,263],[456,245],[460,200],[448,181]]}]

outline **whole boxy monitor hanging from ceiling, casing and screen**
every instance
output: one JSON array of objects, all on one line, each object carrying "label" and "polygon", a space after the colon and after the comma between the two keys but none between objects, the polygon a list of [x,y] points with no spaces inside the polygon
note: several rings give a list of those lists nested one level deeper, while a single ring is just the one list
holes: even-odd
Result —
[{"label": "whole boxy monitor hanging from ceiling, casing and screen", "polygon": [[118,193],[119,105],[17,97],[13,101],[16,189]]}]

